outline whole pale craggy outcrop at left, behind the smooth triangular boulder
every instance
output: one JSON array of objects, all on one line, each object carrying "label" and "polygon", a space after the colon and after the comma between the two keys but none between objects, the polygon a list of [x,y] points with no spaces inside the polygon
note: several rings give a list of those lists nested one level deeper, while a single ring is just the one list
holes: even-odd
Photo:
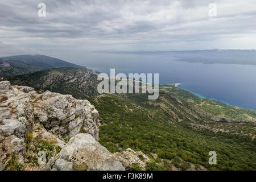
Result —
[{"label": "whole pale craggy outcrop at left, behind the smooth triangular boulder", "polygon": [[24,163],[26,142],[32,147],[33,140],[47,140],[63,148],[66,143],[60,138],[68,139],[81,131],[96,141],[98,126],[98,111],[87,100],[0,82],[0,169],[5,169],[13,156]]}]

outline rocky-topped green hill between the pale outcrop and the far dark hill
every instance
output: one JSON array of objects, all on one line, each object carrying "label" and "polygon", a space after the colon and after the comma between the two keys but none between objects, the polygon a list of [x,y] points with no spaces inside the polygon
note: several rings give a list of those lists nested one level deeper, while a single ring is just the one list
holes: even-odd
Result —
[{"label": "rocky-topped green hill between the pale outcrop and the far dark hill", "polygon": [[85,69],[64,67],[25,75],[6,77],[12,85],[26,85],[36,90],[71,94],[75,98],[97,96],[97,74]]}]

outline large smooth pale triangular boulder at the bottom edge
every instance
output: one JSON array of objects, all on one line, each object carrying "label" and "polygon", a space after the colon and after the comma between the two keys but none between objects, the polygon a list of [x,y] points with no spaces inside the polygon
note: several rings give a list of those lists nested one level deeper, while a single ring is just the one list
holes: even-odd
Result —
[{"label": "large smooth pale triangular boulder at the bottom edge", "polygon": [[84,133],[71,138],[55,161],[49,164],[49,168],[59,171],[74,170],[75,166],[86,166],[90,171],[125,170],[114,154],[101,146],[92,135]]}]

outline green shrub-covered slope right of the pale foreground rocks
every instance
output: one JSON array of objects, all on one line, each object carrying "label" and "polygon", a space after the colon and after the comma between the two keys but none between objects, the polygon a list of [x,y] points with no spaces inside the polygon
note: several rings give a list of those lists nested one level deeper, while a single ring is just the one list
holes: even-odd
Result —
[{"label": "green shrub-covered slope right of the pale foreground rocks", "polygon": [[[205,126],[204,120],[208,118],[200,117],[189,108],[184,114],[185,106],[166,95],[160,97],[169,100],[171,109],[177,112],[164,111],[160,107],[161,100],[156,101],[159,106],[139,106],[131,100],[141,102],[142,94],[131,97],[125,100],[110,94],[90,99],[100,114],[100,143],[108,150],[115,152],[128,147],[141,150],[161,166],[152,163],[154,169],[196,169],[200,166],[210,170],[256,169],[256,143],[251,136],[213,131],[207,127],[195,129],[192,125]],[[187,115],[189,112],[191,114]],[[245,125],[246,130],[250,128],[255,135],[255,125]],[[210,166],[208,153],[212,150],[218,157],[217,165]]]}]

